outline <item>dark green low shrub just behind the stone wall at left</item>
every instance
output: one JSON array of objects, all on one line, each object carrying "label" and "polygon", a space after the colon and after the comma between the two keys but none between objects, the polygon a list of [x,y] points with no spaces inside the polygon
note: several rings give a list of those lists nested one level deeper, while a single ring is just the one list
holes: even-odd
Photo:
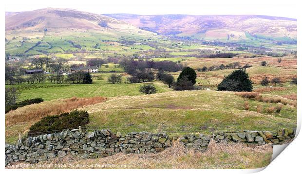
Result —
[{"label": "dark green low shrub just behind the stone wall at left", "polygon": [[73,110],[70,113],[46,116],[29,128],[30,136],[39,135],[39,132],[49,132],[62,129],[72,129],[89,122],[87,111]]}]

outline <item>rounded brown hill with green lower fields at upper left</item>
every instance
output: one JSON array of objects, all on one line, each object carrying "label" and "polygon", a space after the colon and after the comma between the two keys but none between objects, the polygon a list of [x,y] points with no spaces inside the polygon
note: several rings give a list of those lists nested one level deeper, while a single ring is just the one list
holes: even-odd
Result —
[{"label": "rounded brown hill with green lower fields at upper left", "polygon": [[10,54],[122,50],[124,40],[155,37],[124,21],[72,9],[5,13],[5,51]]}]

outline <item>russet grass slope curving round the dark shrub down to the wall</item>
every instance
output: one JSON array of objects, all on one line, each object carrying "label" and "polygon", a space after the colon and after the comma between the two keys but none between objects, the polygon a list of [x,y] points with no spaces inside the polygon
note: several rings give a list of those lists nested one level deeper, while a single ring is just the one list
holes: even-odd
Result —
[{"label": "russet grass slope curving round the dark shrub down to the wall", "polygon": [[[5,141],[15,141],[18,134],[25,135],[29,127],[48,115],[69,112],[91,104],[101,103],[105,97],[59,99],[20,107],[5,114]],[[19,132],[19,133],[18,133]]]}]

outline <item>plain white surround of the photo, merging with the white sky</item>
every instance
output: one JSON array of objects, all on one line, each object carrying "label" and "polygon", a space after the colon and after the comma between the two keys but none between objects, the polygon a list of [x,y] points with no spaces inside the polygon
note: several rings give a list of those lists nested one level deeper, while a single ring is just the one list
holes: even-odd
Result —
[{"label": "plain white surround of the photo, merging with the white sky", "polygon": [[[59,5],[58,5],[59,4]],[[25,8],[24,8],[25,7]],[[150,0],[150,1],[141,1],[141,0],[114,0],[114,1],[94,1],[94,0],[9,0],[6,2],[1,1],[1,65],[0,69],[2,74],[1,79],[1,96],[4,97],[4,11],[14,11],[12,9],[17,9],[16,11],[28,9],[34,10],[44,7],[61,7],[61,8],[75,8],[78,10],[84,10],[85,8],[93,9],[93,13],[104,14],[104,13],[132,13],[132,14],[192,14],[192,15],[244,15],[244,14],[253,14],[253,15],[269,15],[269,16],[278,16],[278,17],[291,17],[298,19],[298,30],[302,28],[300,20],[301,16],[301,2],[298,0],[252,0],[252,1],[243,1],[243,0],[207,0],[207,1],[194,1],[194,0]],[[99,10],[98,10],[99,9]],[[301,35],[298,34],[298,50],[301,48]],[[298,77],[301,77],[301,61],[299,60],[299,51],[298,51]],[[299,80],[298,84],[301,84]],[[298,85],[298,130],[301,128],[301,85]],[[1,103],[1,124],[4,125],[4,100],[2,98]],[[297,130],[297,134],[299,131]],[[2,140],[2,147],[4,146],[4,126],[1,126],[1,135],[0,139]],[[279,157],[277,157],[262,173],[288,173],[291,171],[298,171],[301,166],[301,148],[302,148],[302,138],[297,137],[293,143],[289,144],[288,147],[284,150]],[[1,151],[1,153],[3,153]],[[2,155],[4,157],[4,154]],[[1,169],[4,169],[4,160],[1,161]],[[256,170],[173,170],[171,172],[176,173],[253,173],[259,172],[263,169]],[[4,172],[4,171],[3,171]],[[5,170],[5,173],[53,173],[54,170]],[[65,172],[63,170],[56,170],[56,172]],[[72,172],[86,172],[80,170],[73,170]],[[88,171],[87,171],[88,172]],[[89,172],[99,173],[99,170],[89,170]],[[105,172],[105,171],[104,171]],[[122,173],[141,173],[141,170],[106,170],[106,172],[122,172]],[[144,173],[153,173],[153,170],[144,170]],[[156,172],[168,173],[169,170],[157,170]]]}]

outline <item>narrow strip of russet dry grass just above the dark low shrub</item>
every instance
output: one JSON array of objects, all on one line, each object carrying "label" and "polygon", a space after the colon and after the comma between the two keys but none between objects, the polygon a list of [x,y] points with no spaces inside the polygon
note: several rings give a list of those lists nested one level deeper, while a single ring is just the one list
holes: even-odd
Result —
[{"label": "narrow strip of russet dry grass just above the dark low shrub", "polygon": [[63,112],[84,107],[91,104],[101,103],[107,100],[105,97],[76,98],[42,102],[18,108],[5,114],[5,125],[13,125],[21,122],[40,120],[47,115],[56,115]]}]

